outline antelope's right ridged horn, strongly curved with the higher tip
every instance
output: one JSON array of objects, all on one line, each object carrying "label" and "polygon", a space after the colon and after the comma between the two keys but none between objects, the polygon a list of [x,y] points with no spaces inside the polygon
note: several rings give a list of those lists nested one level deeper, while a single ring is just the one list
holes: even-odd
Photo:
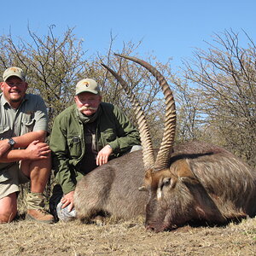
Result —
[{"label": "antelope's right ridged horn, strongly curved with the higher tip", "polygon": [[176,108],[175,102],[172,95],[172,90],[166,82],[164,76],[153,66],[148,64],[146,61],[137,59],[136,57],[126,56],[126,55],[118,55],[119,57],[123,57],[127,60],[137,62],[141,66],[148,69],[150,73],[154,75],[154,78],[160,84],[160,87],[163,91],[166,100],[166,118],[165,118],[165,131],[162,138],[162,142],[160,144],[160,150],[157,154],[155,163],[154,163],[154,171],[164,169],[169,166],[170,154],[172,153],[172,147],[174,144],[175,130],[176,130]]}]

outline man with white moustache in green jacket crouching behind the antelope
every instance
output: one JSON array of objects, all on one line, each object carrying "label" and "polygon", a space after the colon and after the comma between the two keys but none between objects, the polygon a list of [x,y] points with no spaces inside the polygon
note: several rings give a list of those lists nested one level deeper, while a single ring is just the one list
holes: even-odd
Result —
[{"label": "man with white moustache in green jacket crouching behind the antelope", "polygon": [[125,114],[102,102],[95,80],[79,81],[74,101],[55,118],[49,143],[59,184],[54,188],[50,205],[62,220],[75,215],[73,194],[81,177],[140,145],[139,132]]}]

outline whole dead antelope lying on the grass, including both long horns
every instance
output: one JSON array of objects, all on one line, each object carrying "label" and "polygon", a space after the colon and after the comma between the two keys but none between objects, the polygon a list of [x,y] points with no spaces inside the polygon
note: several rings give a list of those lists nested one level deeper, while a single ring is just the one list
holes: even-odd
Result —
[{"label": "whole dead antelope lying on the grass, including both long horns", "polygon": [[166,99],[163,140],[156,154],[138,102],[125,81],[107,67],[136,108],[143,152],[125,154],[84,176],[74,194],[77,217],[90,221],[102,212],[126,219],[145,215],[146,228],[159,232],[189,221],[224,224],[233,218],[255,216],[256,172],[234,154],[212,144],[174,146],[172,90],[147,62],[120,56],[148,68],[159,80]]}]

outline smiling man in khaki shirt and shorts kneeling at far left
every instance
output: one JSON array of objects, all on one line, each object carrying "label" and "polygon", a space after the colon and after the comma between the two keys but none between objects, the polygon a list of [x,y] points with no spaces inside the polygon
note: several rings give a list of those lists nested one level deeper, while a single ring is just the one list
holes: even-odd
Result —
[{"label": "smiling man in khaki shirt and shorts kneeling at far left", "polygon": [[45,223],[54,218],[44,211],[44,189],[51,170],[50,150],[44,143],[48,116],[41,96],[26,94],[26,76],[19,67],[3,73],[0,94],[0,223],[17,213],[19,184],[31,182],[26,218]]}]

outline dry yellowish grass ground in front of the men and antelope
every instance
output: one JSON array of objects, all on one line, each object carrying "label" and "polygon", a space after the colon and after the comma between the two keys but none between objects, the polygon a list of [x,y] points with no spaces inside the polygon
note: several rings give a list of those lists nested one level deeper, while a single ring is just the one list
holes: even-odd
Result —
[{"label": "dry yellowish grass ground in front of the men and antelope", "polygon": [[20,220],[0,224],[1,255],[256,255],[256,218],[226,227],[184,226],[154,234],[143,219],[109,220],[103,226],[38,224]]}]

